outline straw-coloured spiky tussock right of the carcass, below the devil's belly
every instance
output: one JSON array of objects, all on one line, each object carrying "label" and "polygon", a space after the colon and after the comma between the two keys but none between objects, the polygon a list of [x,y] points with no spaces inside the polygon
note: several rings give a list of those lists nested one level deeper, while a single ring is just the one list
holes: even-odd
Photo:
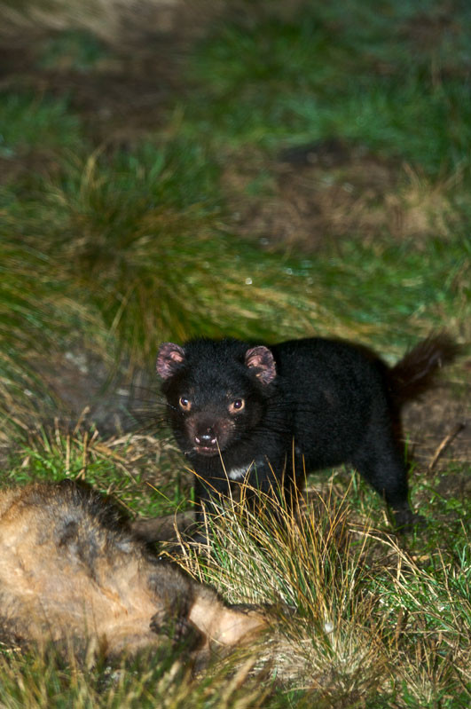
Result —
[{"label": "straw-coloured spiky tussock right of the carcass, below the devil's belly", "polygon": [[362,590],[367,536],[355,538],[345,500],[319,498],[293,516],[254,492],[263,511],[224,500],[208,559],[187,548],[185,566],[233,603],[266,604],[271,631],[258,658],[285,688],[309,689],[321,706],[365,701],[385,674],[378,600]]}]

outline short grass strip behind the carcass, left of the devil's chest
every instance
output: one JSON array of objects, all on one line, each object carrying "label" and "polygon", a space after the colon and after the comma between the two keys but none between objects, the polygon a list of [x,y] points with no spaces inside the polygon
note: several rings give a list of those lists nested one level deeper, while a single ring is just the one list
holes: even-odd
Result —
[{"label": "short grass strip behind the carcass, left of the devil's chest", "polygon": [[[152,445],[139,434],[103,441],[96,429],[43,429],[9,457],[3,485],[84,480],[111,496],[130,517],[170,515],[188,506],[186,478],[171,469],[165,437]],[[173,463],[175,465],[175,463]]]}]

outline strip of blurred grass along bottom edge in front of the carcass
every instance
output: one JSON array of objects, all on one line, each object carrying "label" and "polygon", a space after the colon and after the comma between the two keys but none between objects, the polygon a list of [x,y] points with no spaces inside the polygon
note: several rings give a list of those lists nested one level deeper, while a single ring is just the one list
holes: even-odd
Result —
[{"label": "strip of blurred grass along bottom edge in front of the carcass", "polygon": [[[74,658],[71,658],[74,662]],[[2,706],[17,709],[29,706],[75,706],[90,709],[103,706],[118,709],[153,707],[168,709],[205,706],[208,709],[265,706],[266,690],[255,680],[247,681],[247,667],[233,671],[216,669],[204,680],[192,677],[175,653],[145,655],[114,666],[67,666],[53,653],[45,660],[37,657],[0,658]],[[249,704],[248,704],[249,702]]]}]

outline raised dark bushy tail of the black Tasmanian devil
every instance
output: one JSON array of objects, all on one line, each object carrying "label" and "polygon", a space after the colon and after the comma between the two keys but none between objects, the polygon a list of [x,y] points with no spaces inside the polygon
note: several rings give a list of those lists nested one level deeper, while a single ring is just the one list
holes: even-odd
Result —
[{"label": "raised dark bushy tail of the black Tasmanian devil", "polygon": [[417,398],[434,383],[437,372],[461,351],[450,335],[429,335],[388,372],[389,389],[398,404]]}]

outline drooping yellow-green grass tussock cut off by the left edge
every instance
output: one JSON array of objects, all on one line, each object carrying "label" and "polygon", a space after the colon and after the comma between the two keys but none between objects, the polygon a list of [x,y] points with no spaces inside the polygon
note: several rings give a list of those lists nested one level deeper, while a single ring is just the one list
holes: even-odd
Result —
[{"label": "drooping yellow-green grass tussock cut off by the left edge", "polygon": [[0,440],[5,445],[57,415],[59,399],[41,362],[90,338],[107,366],[116,346],[98,310],[81,302],[43,238],[18,239],[7,223],[0,237]]}]

